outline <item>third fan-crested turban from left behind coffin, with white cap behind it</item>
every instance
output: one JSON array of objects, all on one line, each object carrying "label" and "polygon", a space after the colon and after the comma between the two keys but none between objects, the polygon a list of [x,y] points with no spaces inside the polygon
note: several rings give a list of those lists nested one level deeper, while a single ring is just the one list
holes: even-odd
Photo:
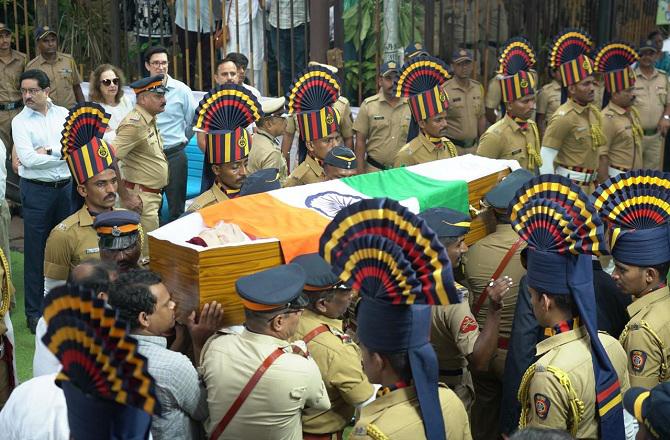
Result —
[{"label": "third fan-crested turban from left behind coffin, with white cap behind it", "polygon": [[340,92],[340,81],[321,65],[308,67],[293,81],[286,94],[288,112],[296,115],[303,141],[325,138],[340,130],[341,115],[333,108]]}]

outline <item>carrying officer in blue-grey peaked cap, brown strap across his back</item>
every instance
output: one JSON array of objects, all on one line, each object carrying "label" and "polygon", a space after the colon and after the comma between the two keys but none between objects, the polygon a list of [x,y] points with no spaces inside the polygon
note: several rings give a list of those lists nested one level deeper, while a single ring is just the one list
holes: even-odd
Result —
[{"label": "carrying officer in blue-grey peaked cap, brown strap across his back", "polygon": [[308,304],[305,271],[273,267],[235,283],[246,318],[239,335],[220,333],[202,349],[209,438],[302,440],[304,408],[326,411],[330,400],[304,343],[289,344]]}]

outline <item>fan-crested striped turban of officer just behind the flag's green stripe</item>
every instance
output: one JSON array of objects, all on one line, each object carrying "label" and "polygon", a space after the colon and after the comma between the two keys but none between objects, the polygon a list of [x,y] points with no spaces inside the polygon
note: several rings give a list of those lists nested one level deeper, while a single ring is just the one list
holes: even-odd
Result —
[{"label": "fan-crested striped turban of officer just behind the flag's green stripe", "polygon": [[447,66],[439,58],[419,55],[403,64],[394,89],[396,96],[409,98],[412,121],[407,142],[419,134],[419,121],[425,121],[449,107],[449,96],[442,87],[449,78],[451,75]]}]

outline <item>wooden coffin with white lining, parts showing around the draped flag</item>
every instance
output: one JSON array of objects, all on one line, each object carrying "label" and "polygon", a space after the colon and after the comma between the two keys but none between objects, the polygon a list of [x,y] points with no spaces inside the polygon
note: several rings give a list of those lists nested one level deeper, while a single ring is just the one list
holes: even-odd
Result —
[{"label": "wooden coffin with white lining, parts showing around the draped flag", "polygon": [[[451,180],[468,182],[469,204],[474,210],[481,209],[479,201],[510,172],[510,168],[518,167],[512,161],[468,159],[468,156],[440,162],[449,165],[444,171],[447,175],[453,174]],[[279,191],[287,190],[290,188]],[[260,239],[212,248],[186,243],[205,227],[202,217],[196,213],[149,233],[150,267],[161,274],[177,302],[177,314],[182,322],[202,304],[216,300],[224,306],[226,325],[241,324],[244,311],[235,291],[235,280],[284,263],[280,242]],[[484,222],[476,218],[466,242],[472,244],[489,232]]]}]

